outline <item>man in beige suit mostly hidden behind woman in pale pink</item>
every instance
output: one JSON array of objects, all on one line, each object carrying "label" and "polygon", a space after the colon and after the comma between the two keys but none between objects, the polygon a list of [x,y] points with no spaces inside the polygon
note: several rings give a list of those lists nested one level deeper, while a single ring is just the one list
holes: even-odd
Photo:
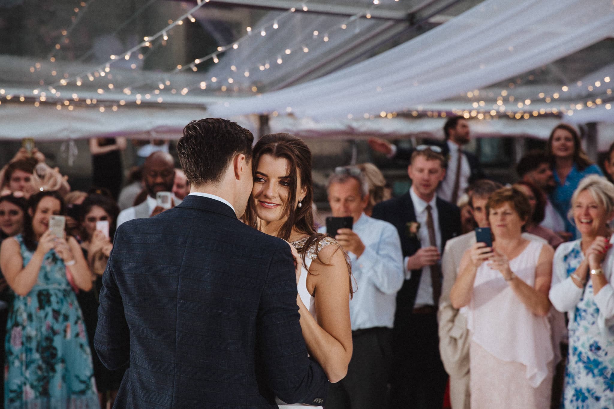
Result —
[{"label": "man in beige suit mostly hidden behind woman in pale pink", "polygon": [[[469,204],[473,209],[478,227],[488,227],[486,202],[488,197],[503,186],[491,180],[478,180],[472,185]],[[546,240],[533,234],[523,233],[529,240]],[[475,243],[475,232],[468,232],[454,239],[448,240],[443,258],[441,259],[441,272],[443,285],[437,321],[439,323],[439,352],[443,366],[450,376],[450,400],[453,409],[468,409],[470,407],[469,391],[469,345],[471,337],[467,329],[467,315],[465,308],[457,310],[452,307],[450,291],[458,274],[461,259],[465,251]]]}]

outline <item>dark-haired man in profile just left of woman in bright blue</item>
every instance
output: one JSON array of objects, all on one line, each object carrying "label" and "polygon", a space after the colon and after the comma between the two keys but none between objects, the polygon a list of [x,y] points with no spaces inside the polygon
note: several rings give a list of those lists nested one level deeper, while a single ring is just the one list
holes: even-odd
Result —
[{"label": "dark-haired man in profile just left of woman in bright blue", "polygon": [[569,240],[570,234],[565,232],[565,221],[548,199],[548,193],[556,186],[548,157],[541,151],[529,152],[516,165],[516,173],[521,180],[532,183],[546,194],[545,217],[540,226],[558,233],[565,240]]}]

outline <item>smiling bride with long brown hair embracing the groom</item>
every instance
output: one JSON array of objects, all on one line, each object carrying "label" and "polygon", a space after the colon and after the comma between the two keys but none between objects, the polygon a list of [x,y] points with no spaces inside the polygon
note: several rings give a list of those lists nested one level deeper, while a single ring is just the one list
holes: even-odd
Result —
[{"label": "smiling bride with long brown hair embracing the groom", "polygon": [[[307,350],[338,382],[352,356],[349,259],[314,227],[311,151],[290,134],[263,136],[253,150],[254,188],[246,222],[284,239],[297,258],[298,312]],[[281,405],[283,407],[283,403]]]}]

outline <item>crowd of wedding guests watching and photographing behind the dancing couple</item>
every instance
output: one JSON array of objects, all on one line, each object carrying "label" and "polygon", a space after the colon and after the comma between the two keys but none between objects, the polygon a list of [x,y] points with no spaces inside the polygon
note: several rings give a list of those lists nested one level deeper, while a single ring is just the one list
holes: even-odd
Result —
[{"label": "crowd of wedding guests watching and photographing behind the dancing couple", "polygon": [[[353,354],[325,408],[614,408],[614,143],[604,176],[560,124],[502,186],[462,149],[467,120],[450,118],[444,132],[443,145],[411,150],[369,140],[408,161],[401,196],[370,163],[328,178],[332,216],[352,227],[319,231],[348,254],[354,294]],[[115,229],[190,192],[164,141],[139,143],[122,185],[125,146],[90,142],[87,192],[71,191],[36,148],[0,170],[6,408],[114,402],[126,368],[106,369],[93,338]]]}]

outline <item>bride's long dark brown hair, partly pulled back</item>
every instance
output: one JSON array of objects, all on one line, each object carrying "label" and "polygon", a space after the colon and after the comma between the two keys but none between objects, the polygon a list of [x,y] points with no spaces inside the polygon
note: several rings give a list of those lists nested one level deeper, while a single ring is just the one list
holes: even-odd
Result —
[{"label": "bride's long dark brown hair, partly pulled back", "polygon": [[[271,155],[273,158],[284,158],[288,161],[290,167],[289,173],[289,186],[288,186],[288,199],[284,205],[284,216],[286,221],[279,227],[277,236],[280,239],[286,241],[290,240],[290,234],[292,229],[297,232],[309,235],[303,248],[298,250],[303,258],[303,265],[305,265],[305,256],[307,250],[311,247],[319,249],[322,239],[327,237],[324,234],[318,233],[314,225],[313,216],[313,185],[311,179],[311,150],[300,138],[286,134],[267,134],[260,138],[254,149],[252,150],[252,174],[256,174],[258,162],[263,155]],[[295,207],[297,201],[297,185],[298,178],[300,177],[301,188],[305,188],[305,197],[301,200],[301,207]],[[247,224],[260,230],[258,223],[258,217],[254,209],[254,202],[252,200],[247,201],[247,208],[245,211],[245,220]],[[343,251],[343,249],[341,249]],[[348,254],[343,252],[346,264],[348,265],[348,272],[350,275],[350,292],[352,293],[352,280],[351,280],[351,266],[348,258]],[[317,256],[320,262],[322,259]],[[325,264],[322,262],[322,264]]]}]

